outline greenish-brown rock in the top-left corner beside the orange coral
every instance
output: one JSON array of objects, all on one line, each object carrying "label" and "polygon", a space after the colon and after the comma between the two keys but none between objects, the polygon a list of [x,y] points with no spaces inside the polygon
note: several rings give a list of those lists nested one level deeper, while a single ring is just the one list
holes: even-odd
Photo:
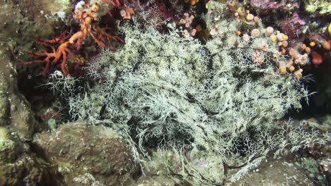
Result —
[{"label": "greenish-brown rock in the top-left corner beside the orange coral", "polygon": [[33,38],[47,38],[55,34],[54,28],[59,27],[60,22],[49,16],[68,8],[69,1],[67,2],[62,0],[1,0],[0,49],[7,56],[24,61],[27,56],[23,52],[31,51],[35,47]]}]

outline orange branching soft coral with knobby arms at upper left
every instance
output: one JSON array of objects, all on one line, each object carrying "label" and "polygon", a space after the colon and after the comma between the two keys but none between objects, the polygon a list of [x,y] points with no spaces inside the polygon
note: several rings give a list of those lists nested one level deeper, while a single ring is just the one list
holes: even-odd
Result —
[{"label": "orange branching soft coral with knobby arms at upper left", "polygon": [[[112,6],[120,6],[120,1],[110,1],[102,0],[105,3],[112,4]],[[52,51],[47,52],[43,51],[42,53],[29,53],[31,56],[44,57],[42,60],[30,61],[25,63],[20,63],[17,66],[28,66],[33,64],[42,64],[45,63],[45,69],[42,71],[42,75],[46,75],[50,64],[56,65],[60,59],[60,67],[64,75],[68,75],[69,69],[67,66],[67,56],[71,53],[69,47],[72,46],[76,51],[81,49],[81,45],[86,40],[86,37],[90,35],[93,41],[98,44],[101,48],[108,46],[110,41],[114,40],[117,42],[124,42],[120,37],[109,35],[105,30],[106,28],[100,28],[98,25],[93,24],[93,21],[99,19],[100,4],[83,4],[83,6],[76,8],[74,12],[74,18],[79,20],[79,25],[81,26],[79,32],[76,32],[74,35],[62,34],[61,36],[55,39],[37,39],[38,44],[49,47]],[[57,44],[57,49],[52,44]]]}]

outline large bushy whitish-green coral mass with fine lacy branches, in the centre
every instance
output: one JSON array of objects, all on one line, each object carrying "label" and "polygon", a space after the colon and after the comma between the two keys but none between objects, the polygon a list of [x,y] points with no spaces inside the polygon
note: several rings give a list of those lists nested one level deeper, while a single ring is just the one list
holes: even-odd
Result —
[{"label": "large bushy whitish-green coral mass with fine lacy branches, in the centre", "polygon": [[[226,16],[226,7],[209,2],[204,21],[207,30],[217,28],[217,33],[205,46],[178,37],[180,30],[170,23],[166,35],[137,21],[124,25],[120,30],[126,44],[115,53],[104,50],[86,67],[86,73],[100,81],[69,98],[71,116],[119,130],[145,156],[146,147],[175,148],[178,166],[185,169],[169,168],[168,174],[192,185],[221,184],[227,174],[192,166],[182,157],[183,150],[192,151],[191,156],[206,154],[215,166],[223,165],[223,171],[227,163],[242,162],[230,179],[236,182],[270,151],[281,154],[287,147],[296,151],[325,144],[327,135],[274,123],[289,109],[301,109],[300,101],[309,95],[298,81],[307,55],[289,49],[289,58],[281,56],[277,42],[283,44],[288,37],[279,31],[270,32],[274,41],[261,37],[263,27],[245,37],[236,35],[240,23],[219,18]],[[144,13],[136,16],[144,18]],[[296,66],[289,69],[293,74],[281,73],[281,61]],[[272,135],[274,130],[278,135]]]}]

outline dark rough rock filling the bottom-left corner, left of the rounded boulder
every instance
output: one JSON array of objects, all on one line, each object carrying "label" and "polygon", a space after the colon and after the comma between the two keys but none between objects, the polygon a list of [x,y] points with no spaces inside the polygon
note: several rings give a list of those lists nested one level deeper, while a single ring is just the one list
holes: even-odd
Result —
[{"label": "dark rough rock filling the bottom-left corner, left of the rounded boulder", "polygon": [[56,185],[47,163],[4,127],[0,127],[0,170],[0,185]]}]

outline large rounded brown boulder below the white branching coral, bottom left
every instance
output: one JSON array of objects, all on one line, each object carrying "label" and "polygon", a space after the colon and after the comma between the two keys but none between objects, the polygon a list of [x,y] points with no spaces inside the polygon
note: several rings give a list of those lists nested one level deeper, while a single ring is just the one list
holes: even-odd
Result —
[{"label": "large rounded brown boulder below the white branching coral, bottom left", "polygon": [[129,185],[139,172],[127,144],[110,128],[67,123],[34,142],[66,185]]}]

